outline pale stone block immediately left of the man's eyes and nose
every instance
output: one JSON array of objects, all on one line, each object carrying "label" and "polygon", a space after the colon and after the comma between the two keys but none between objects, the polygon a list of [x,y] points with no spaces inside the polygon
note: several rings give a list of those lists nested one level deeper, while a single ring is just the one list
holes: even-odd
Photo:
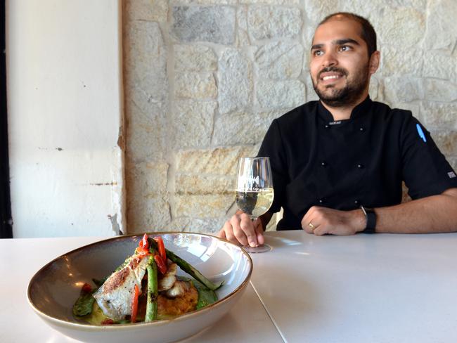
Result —
[{"label": "pale stone block immediately left of the man's eyes and nose", "polygon": [[276,41],[260,46],[255,53],[257,75],[268,79],[296,79],[302,72],[303,46]]}]

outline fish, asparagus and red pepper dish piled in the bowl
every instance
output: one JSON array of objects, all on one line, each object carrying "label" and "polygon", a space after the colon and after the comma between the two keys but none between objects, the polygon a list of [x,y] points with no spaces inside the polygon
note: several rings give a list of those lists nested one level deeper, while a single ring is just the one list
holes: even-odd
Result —
[{"label": "fish, asparagus and red pepper dish piled in the bowl", "polygon": [[[177,276],[178,268],[193,278]],[[73,305],[76,318],[94,325],[150,322],[202,309],[217,301],[212,283],[145,233],[131,256],[104,280],[84,283]]]}]

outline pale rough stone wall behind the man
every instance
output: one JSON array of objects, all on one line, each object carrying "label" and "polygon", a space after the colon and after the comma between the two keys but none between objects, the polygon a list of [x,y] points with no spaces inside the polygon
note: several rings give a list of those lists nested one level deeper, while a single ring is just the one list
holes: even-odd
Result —
[{"label": "pale rough stone wall behind the man", "polygon": [[378,32],[371,98],[412,110],[456,166],[454,0],[125,0],[129,232],[219,230],[238,157],[257,153],[273,118],[316,99],[309,46],[335,11]]}]

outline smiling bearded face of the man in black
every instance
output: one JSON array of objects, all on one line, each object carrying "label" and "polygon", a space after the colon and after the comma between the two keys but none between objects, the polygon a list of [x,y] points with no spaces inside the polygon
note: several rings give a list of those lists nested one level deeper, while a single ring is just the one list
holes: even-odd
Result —
[{"label": "smiling bearded face of the man in black", "polygon": [[342,107],[363,100],[374,72],[369,62],[358,22],[330,19],[316,29],[310,73],[314,90],[323,103]]}]

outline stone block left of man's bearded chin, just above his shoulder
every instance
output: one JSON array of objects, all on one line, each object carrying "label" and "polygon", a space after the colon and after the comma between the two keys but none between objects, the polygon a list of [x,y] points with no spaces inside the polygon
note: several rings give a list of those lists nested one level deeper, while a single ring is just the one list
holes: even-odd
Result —
[{"label": "stone block left of man's bearded chin, just above his shoulder", "polygon": [[260,81],[256,93],[257,103],[269,110],[295,108],[306,99],[304,84],[298,80]]}]

